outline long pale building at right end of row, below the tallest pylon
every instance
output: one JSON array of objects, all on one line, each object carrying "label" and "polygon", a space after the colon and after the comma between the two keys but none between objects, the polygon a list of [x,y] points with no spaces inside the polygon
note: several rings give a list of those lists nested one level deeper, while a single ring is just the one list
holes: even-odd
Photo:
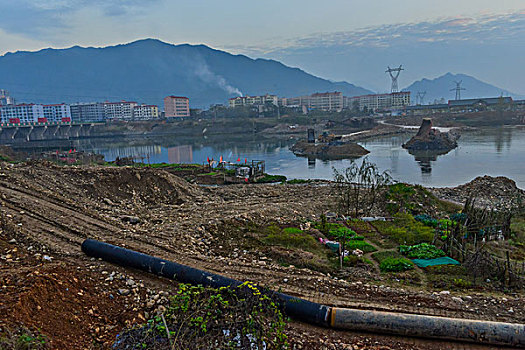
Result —
[{"label": "long pale building at right end of row, below the tallest pylon", "polygon": [[393,92],[391,94],[363,95],[348,98],[348,108],[359,110],[383,111],[401,109],[410,106],[410,91]]}]

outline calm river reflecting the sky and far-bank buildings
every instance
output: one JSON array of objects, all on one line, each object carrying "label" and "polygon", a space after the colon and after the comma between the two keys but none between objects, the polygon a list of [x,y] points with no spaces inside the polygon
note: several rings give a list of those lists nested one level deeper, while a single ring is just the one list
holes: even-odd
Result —
[{"label": "calm river reflecting the sky and far-bank buildings", "polygon": [[[525,128],[483,128],[464,132],[458,147],[444,155],[411,155],[401,145],[409,136],[378,137],[360,142],[370,151],[368,159],[388,170],[398,181],[443,187],[466,183],[480,175],[506,176],[525,188]],[[343,169],[350,160],[325,161],[296,157],[290,140],[262,137],[214,137],[178,139],[89,139],[71,141],[73,147],[101,153],[106,160],[133,156],[150,163],[203,163],[207,158],[237,162],[265,160],[270,174],[289,179],[332,179],[333,167]],[[46,144],[46,148],[54,145]],[[359,162],[359,160],[358,160]]]}]

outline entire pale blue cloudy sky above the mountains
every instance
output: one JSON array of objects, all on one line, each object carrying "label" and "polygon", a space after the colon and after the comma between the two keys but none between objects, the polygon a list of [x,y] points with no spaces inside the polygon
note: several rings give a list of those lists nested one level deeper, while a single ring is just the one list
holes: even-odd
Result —
[{"label": "entire pale blue cloudy sky above the mountains", "polygon": [[0,0],[0,54],[142,38],[265,57],[388,88],[465,73],[525,95],[524,0]]}]

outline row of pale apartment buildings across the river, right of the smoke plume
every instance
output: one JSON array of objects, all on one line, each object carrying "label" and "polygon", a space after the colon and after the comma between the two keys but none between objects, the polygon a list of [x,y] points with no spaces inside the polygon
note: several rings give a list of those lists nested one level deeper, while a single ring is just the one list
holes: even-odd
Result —
[{"label": "row of pale apartment buildings across the river, right of the smoke plume", "polygon": [[229,100],[231,108],[240,106],[259,106],[273,104],[282,107],[306,107],[309,110],[335,111],[343,109],[358,109],[360,111],[400,110],[410,105],[410,92],[395,92],[391,94],[372,94],[347,97],[342,92],[324,92],[299,97],[283,97],[276,95],[241,96]]}]

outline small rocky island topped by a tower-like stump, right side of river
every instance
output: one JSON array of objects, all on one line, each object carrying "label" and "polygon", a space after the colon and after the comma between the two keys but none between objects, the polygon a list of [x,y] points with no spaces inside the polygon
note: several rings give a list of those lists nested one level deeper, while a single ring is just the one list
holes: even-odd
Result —
[{"label": "small rocky island topped by a tower-like stump, right side of river", "polygon": [[444,154],[458,146],[458,134],[440,132],[432,128],[432,119],[424,118],[416,136],[412,137],[403,148],[409,151],[436,151]]}]

